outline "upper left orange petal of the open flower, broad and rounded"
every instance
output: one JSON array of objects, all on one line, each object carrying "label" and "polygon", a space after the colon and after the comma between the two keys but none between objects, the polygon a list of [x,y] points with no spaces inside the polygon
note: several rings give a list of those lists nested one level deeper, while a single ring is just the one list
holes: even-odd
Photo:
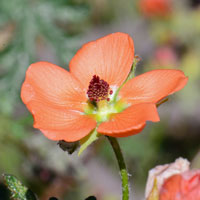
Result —
[{"label": "upper left orange petal of the open flower, broad and rounded", "polygon": [[81,111],[87,101],[80,83],[67,70],[48,62],[30,65],[22,86],[21,98],[25,104],[37,101]]}]

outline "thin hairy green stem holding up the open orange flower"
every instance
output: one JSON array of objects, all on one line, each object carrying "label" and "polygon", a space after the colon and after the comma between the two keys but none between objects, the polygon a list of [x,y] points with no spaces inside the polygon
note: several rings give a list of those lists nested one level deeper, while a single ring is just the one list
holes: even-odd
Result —
[{"label": "thin hairy green stem holding up the open orange flower", "polygon": [[107,136],[107,138],[113,148],[120,169],[122,180],[122,200],[129,200],[128,172],[126,169],[126,164],[124,162],[124,157],[122,155],[121,148],[116,138],[109,136]]}]

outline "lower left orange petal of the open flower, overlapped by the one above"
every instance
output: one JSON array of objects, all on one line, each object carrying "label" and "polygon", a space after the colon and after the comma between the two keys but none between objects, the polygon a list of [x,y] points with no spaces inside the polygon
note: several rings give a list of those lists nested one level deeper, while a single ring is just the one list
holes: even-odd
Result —
[{"label": "lower left orange petal of the open flower, overlapped by the one above", "polygon": [[77,141],[96,127],[95,120],[79,111],[53,108],[37,101],[29,102],[27,107],[34,116],[34,127],[51,140]]}]

